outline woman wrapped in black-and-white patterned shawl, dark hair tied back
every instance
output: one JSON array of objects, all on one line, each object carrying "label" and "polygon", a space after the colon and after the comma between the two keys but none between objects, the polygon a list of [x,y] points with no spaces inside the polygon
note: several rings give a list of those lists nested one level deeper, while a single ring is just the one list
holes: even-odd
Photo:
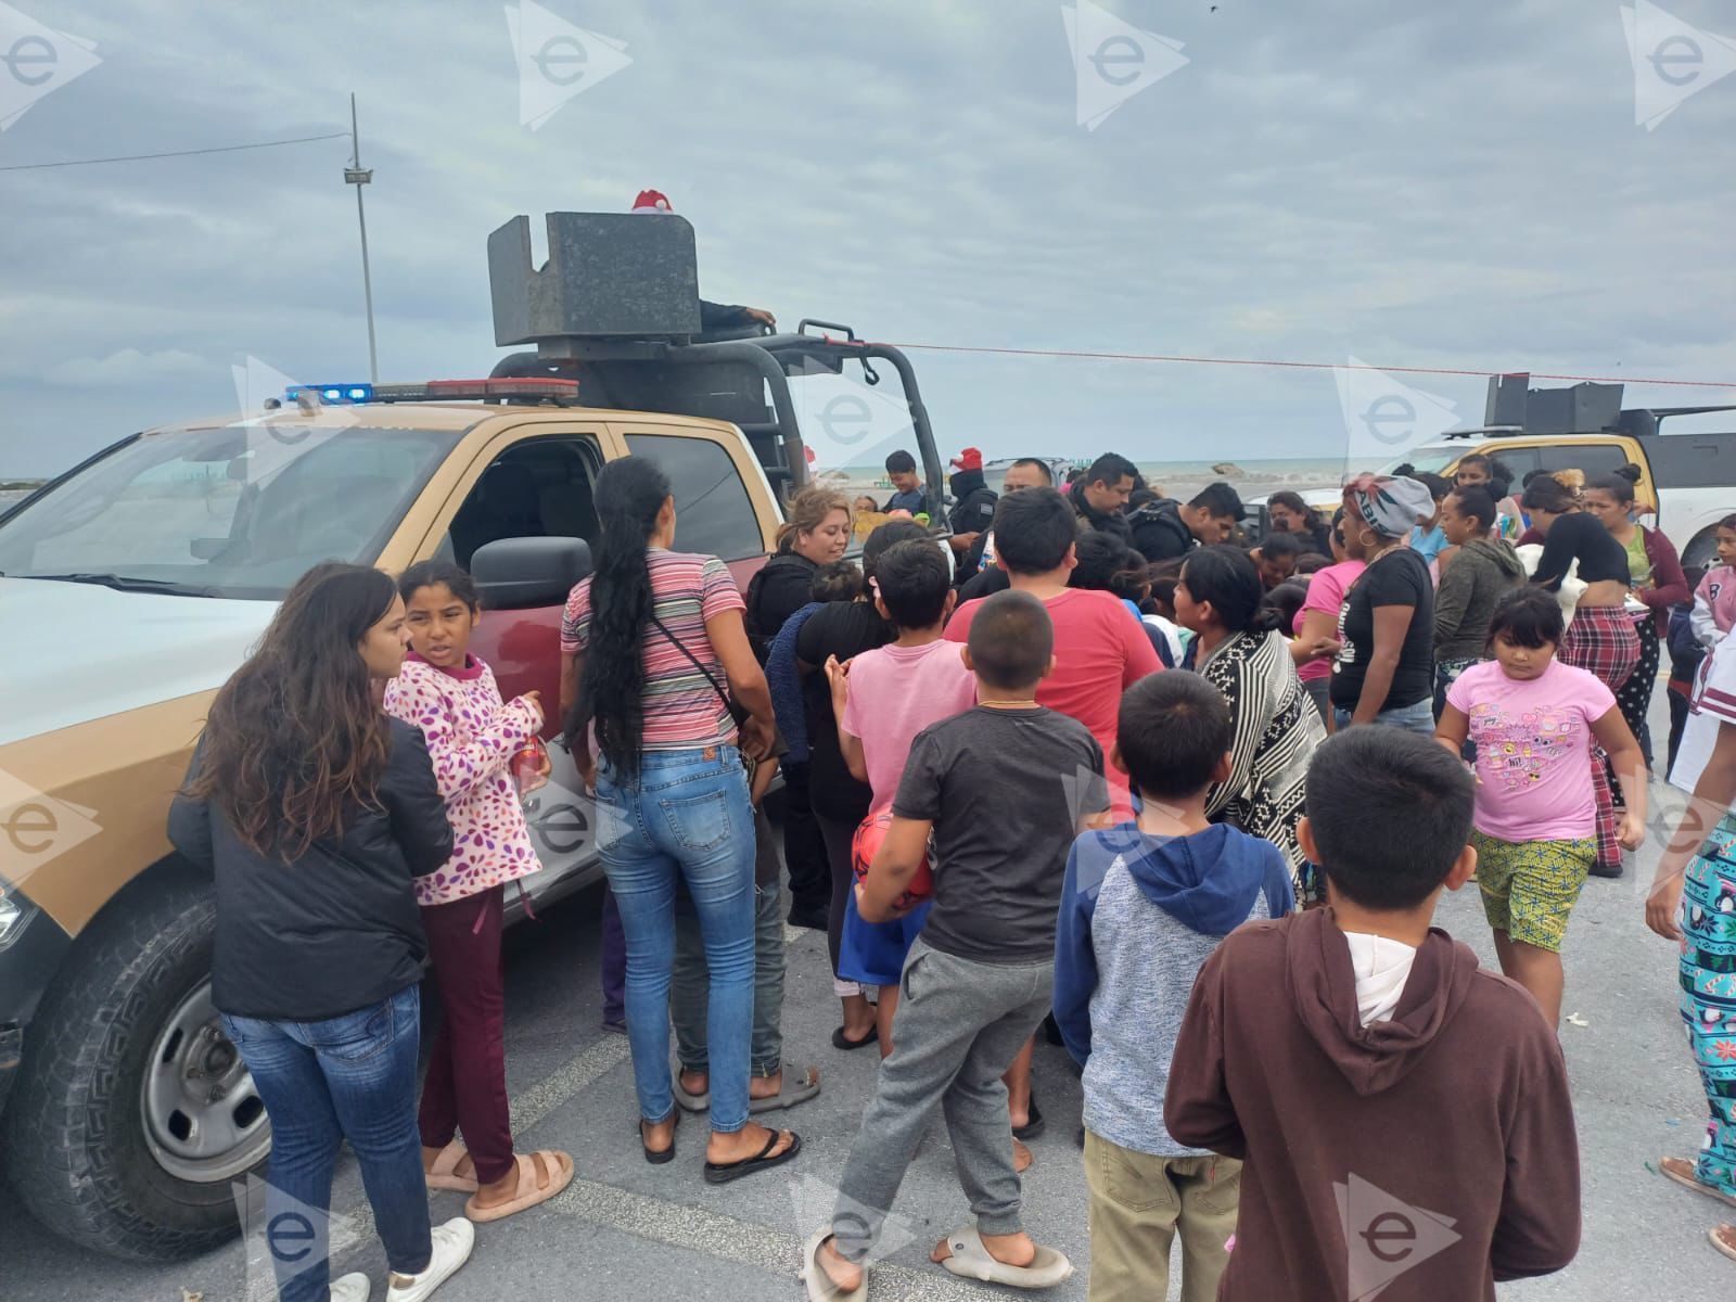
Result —
[{"label": "woman wrapped in black-and-white patterned shawl, dark hair tied back", "polygon": [[1319,712],[1302,691],[1279,615],[1262,602],[1260,571],[1240,547],[1219,543],[1187,554],[1175,585],[1175,616],[1194,630],[1194,667],[1224,693],[1236,724],[1229,778],[1207,792],[1207,818],[1266,837],[1285,852],[1305,896],[1305,858],[1297,823],[1307,795],[1307,762],[1326,740]]}]

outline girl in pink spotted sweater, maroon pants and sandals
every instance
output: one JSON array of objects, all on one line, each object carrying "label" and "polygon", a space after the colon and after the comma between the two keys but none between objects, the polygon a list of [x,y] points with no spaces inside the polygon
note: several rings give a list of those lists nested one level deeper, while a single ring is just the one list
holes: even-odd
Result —
[{"label": "girl in pink spotted sweater, maroon pants and sandals", "polygon": [[510,767],[542,731],[543,712],[536,693],[502,701],[493,672],[470,654],[481,608],[464,569],[424,561],[404,571],[398,590],[410,654],[385,689],[385,710],[427,738],[453,833],[451,861],[417,878],[446,1010],[417,1118],[422,1165],[431,1187],[472,1194],[464,1208],[472,1220],[498,1220],[554,1198],[573,1179],[566,1153],[516,1154],[507,1116],[502,906],[505,884],[542,866]]}]

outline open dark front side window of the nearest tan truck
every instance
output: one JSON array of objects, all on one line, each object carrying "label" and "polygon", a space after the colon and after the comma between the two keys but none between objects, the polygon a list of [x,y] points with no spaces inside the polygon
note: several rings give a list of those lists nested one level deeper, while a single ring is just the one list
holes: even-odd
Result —
[{"label": "open dark front side window of the nearest tan truck", "polygon": [[590,483],[602,465],[595,439],[528,439],[500,453],[451,517],[439,550],[460,566],[502,538],[597,540]]}]

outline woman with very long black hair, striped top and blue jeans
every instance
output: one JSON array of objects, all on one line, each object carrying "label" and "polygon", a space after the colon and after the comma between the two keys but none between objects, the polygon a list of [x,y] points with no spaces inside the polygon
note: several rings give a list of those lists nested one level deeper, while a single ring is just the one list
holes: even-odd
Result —
[{"label": "woman with very long black hair, striped top and blue jeans", "polygon": [[[729,569],[715,556],[670,550],[675,500],[656,462],[609,462],[595,500],[595,573],[573,589],[561,634],[578,684],[566,740],[587,783],[595,781],[602,865],[627,936],[639,1137],[646,1161],[675,1156],[668,988],[679,878],[710,970],[705,1179],[722,1184],[788,1161],[802,1146],[790,1130],[748,1120],[755,896],[741,752],[771,753],[771,693]],[[740,726],[733,705],[745,712]]]}]

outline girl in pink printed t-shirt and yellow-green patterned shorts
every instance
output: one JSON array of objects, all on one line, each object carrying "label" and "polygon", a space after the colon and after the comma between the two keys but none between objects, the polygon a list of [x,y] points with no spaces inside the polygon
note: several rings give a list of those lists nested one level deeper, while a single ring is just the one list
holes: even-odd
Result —
[{"label": "girl in pink printed t-shirt and yellow-green patterned shorts", "polygon": [[1609,752],[1627,811],[1618,837],[1646,835],[1646,760],[1621,708],[1595,675],[1555,660],[1561,604],[1517,589],[1495,606],[1489,651],[1446,693],[1436,741],[1477,746],[1477,812],[1470,844],[1477,887],[1495,929],[1502,972],[1531,991],[1550,1026],[1561,1021],[1561,941],[1597,861],[1592,764]]}]

